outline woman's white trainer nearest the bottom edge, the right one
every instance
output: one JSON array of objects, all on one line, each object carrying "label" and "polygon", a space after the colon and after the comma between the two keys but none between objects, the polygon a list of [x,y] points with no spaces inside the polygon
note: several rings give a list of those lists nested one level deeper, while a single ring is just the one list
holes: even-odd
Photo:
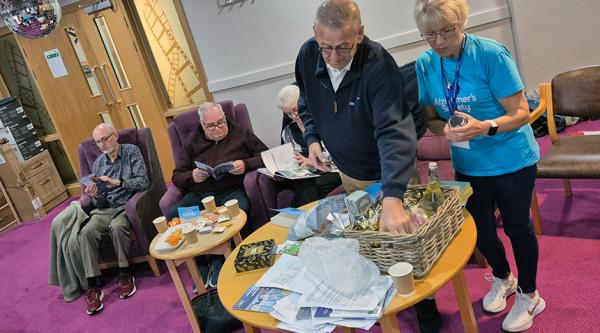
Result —
[{"label": "woman's white trainer nearest the bottom edge, the right one", "polygon": [[508,332],[523,332],[533,325],[533,318],[546,308],[546,301],[535,291],[535,297],[531,298],[517,291],[517,299],[508,316],[502,322],[502,329]]}]

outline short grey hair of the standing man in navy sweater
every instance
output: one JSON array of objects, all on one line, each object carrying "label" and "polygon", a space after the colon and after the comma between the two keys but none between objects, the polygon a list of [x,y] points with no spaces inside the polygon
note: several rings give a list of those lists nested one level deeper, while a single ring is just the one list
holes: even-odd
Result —
[{"label": "short grey hair of the standing man in navy sweater", "polygon": [[317,9],[315,27],[323,25],[328,28],[343,29],[348,24],[352,24],[355,32],[358,32],[362,25],[360,9],[352,0],[328,0]]}]

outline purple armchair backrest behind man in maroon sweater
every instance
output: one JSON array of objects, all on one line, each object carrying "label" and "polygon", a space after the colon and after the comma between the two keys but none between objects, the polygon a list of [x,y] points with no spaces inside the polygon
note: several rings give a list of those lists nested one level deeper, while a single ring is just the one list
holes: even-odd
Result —
[{"label": "purple armchair backrest behind man in maroon sweater", "polygon": [[[237,126],[245,127],[252,130],[252,123],[250,122],[250,114],[246,104],[240,103],[233,105],[231,100],[219,102],[225,112],[225,117]],[[181,113],[175,118],[173,122],[169,124],[168,132],[169,139],[171,139],[171,150],[173,151],[173,158],[175,161],[179,159],[181,147],[183,141],[191,133],[194,133],[200,127],[200,117],[198,116],[197,109]]]}]

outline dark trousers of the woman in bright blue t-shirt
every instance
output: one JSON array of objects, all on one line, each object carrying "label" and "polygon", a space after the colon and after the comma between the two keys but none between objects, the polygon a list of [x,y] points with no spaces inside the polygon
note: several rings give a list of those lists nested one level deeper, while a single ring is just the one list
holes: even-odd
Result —
[{"label": "dark trousers of the woman in bright blue t-shirt", "polygon": [[536,290],[538,243],[529,207],[537,166],[491,177],[474,177],[456,173],[456,180],[471,183],[473,195],[467,210],[477,225],[477,248],[492,267],[495,277],[504,279],[510,273],[504,246],[496,232],[494,211],[502,215],[504,233],[510,239],[519,272],[519,286],[524,293]]}]

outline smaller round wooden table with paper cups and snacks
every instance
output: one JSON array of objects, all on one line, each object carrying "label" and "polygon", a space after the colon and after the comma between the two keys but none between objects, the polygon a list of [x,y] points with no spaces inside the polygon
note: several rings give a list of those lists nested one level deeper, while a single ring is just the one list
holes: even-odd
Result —
[{"label": "smaller round wooden table with paper cups and snacks", "polygon": [[179,294],[185,313],[188,316],[193,331],[196,333],[200,333],[200,323],[194,312],[191,298],[183,285],[177,266],[185,263],[188,268],[188,273],[196,285],[198,293],[205,293],[206,288],[204,288],[204,281],[202,281],[194,257],[203,254],[222,254],[227,258],[229,254],[231,254],[230,240],[233,238],[235,245],[240,245],[242,241],[240,230],[242,230],[246,224],[246,220],[246,213],[243,210],[240,210],[238,216],[233,217],[230,221],[224,222],[232,223],[232,225],[225,229],[223,233],[198,235],[198,241],[194,244],[187,244],[187,241],[184,241],[179,248],[169,252],[159,252],[155,250],[160,234],[156,235],[150,244],[150,255],[156,259],[164,260],[167,263],[169,273],[171,274],[173,283],[175,283],[175,288],[177,288],[177,293]]}]

